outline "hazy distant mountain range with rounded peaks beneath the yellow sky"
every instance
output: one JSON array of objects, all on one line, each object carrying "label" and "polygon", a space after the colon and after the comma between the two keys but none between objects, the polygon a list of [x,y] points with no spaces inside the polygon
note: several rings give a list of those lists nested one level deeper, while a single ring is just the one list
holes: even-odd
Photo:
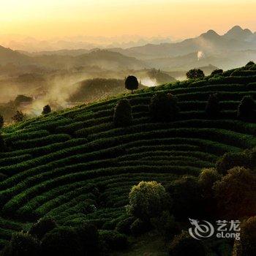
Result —
[{"label": "hazy distant mountain range with rounded peaks beneath the yellow sky", "polygon": [[187,70],[209,64],[228,69],[256,59],[256,33],[234,26],[223,35],[209,30],[199,37],[176,43],[147,44],[132,48],[56,50],[39,53],[0,47],[0,64],[35,65],[43,69],[100,67],[106,70]]}]

